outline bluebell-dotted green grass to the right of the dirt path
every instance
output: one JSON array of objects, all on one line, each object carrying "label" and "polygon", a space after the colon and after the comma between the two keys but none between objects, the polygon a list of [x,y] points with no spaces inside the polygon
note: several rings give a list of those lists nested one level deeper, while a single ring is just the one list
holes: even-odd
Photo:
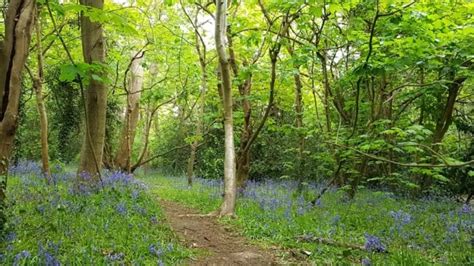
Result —
[{"label": "bluebell-dotted green grass to the right of the dirt path", "polygon": [[[222,184],[152,175],[143,179],[160,197],[199,209],[215,210]],[[411,200],[362,189],[353,201],[342,191],[308,203],[320,185],[302,195],[290,181],[251,182],[238,200],[237,219],[223,219],[250,239],[304,250],[320,264],[474,265],[474,211],[451,199]],[[302,243],[298,236],[323,237],[365,246],[370,251]],[[383,251],[383,252],[381,252]]]}]

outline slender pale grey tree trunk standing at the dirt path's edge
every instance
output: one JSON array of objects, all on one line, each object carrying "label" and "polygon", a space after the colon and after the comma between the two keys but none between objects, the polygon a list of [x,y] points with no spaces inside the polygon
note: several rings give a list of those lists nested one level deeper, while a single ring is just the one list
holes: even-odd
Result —
[{"label": "slender pale grey tree trunk standing at the dirt path's edge", "polygon": [[222,78],[225,135],[224,201],[220,207],[219,214],[233,216],[235,214],[237,187],[235,179],[234,125],[232,118],[232,84],[229,59],[225,49],[227,0],[217,0],[216,6],[215,41]]}]

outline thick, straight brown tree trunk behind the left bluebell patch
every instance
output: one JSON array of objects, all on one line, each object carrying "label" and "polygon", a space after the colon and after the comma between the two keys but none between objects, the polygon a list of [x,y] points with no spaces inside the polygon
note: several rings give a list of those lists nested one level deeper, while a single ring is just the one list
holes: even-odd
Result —
[{"label": "thick, straight brown tree trunk behind the left bluebell patch", "polygon": [[[81,5],[103,9],[103,0],[81,0]],[[88,64],[105,63],[105,41],[102,25],[81,14],[82,53]],[[105,73],[99,71],[95,75]],[[79,177],[100,178],[104,152],[105,117],[107,108],[107,87],[91,75],[85,92],[85,134],[79,163]]]}]

